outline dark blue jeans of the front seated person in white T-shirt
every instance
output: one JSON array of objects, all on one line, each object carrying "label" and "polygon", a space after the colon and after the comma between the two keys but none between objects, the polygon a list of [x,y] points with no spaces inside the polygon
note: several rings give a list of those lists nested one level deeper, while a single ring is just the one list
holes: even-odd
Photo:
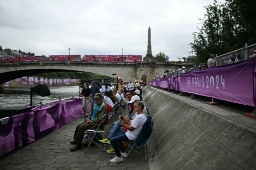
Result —
[{"label": "dark blue jeans of the front seated person in white T-shirt", "polygon": [[125,134],[121,134],[115,137],[112,137],[112,139],[110,140],[110,143],[114,149],[115,155],[117,157],[121,157],[121,153],[120,152],[125,152],[125,149],[122,145],[122,141],[129,141],[129,139],[127,138],[127,136]]}]

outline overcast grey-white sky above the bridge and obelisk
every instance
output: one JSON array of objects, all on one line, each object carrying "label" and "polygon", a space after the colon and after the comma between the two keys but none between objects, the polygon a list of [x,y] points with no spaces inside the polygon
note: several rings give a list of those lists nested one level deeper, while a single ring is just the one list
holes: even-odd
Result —
[{"label": "overcast grey-white sky above the bridge and obelisk", "polygon": [[[223,2],[224,0],[218,0]],[[188,56],[213,0],[0,0],[0,45],[35,55]]]}]

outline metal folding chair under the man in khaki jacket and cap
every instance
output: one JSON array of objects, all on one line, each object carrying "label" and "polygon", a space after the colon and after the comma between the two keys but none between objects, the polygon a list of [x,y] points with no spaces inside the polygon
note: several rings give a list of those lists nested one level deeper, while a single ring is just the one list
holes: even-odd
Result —
[{"label": "metal folding chair under the man in khaki jacket and cap", "polygon": [[[89,142],[89,144],[88,144],[88,146],[87,146],[87,148],[86,148],[84,154],[86,154],[86,152],[87,152],[87,150],[88,150],[88,148],[90,147],[90,145],[91,145],[92,142],[93,142],[94,144],[96,144],[96,145],[97,145],[101,150],[103,150],[103,152],[104,152],[105,149],[102,149],[102,148],[100,147],[100,145],[98,145],[93,139],[96,138],[97,140],[100,140],[100,139],[96,136],[96,134],[101,134],[101,133],[105,132],[105,131],[99,131],[99,127],[101,126],[102,123],[105,122],[106,116],[108,116],[108,114],[104,114],[104,115],[101,117],[100,123],[98,124],[96,130],[94,130],[94,129],[87,129],[86,131],[84,131],[84,134],[86,134],[87,137],[88,137],[89,140],[90,140],[90,142]],[[89,136],[89,135],[91,135],[91,134],[93,134],[92,137]]]}]

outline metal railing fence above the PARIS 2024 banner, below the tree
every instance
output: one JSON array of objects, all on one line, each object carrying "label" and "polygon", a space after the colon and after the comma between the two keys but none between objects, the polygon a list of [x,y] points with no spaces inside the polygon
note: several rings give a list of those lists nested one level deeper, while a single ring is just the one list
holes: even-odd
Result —
[{"label": "metal railing fence above the PARIS 2024 banner, below the tree", "polygon": [[247,60],[253,54],[256,55],[256,44],[247,46],[247,43],[245,43],[243,48],[216,56],[216,66]]}]

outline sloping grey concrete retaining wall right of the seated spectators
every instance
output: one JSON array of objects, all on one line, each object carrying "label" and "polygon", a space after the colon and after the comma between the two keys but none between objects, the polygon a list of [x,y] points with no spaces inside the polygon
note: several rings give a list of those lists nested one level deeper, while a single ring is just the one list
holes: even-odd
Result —
[{"label": "sloping grey concrete retaining wall right of the seated spectators", "polygon": [[143,94],[150,170],[256,169],[256,120],[152,87]]}]

